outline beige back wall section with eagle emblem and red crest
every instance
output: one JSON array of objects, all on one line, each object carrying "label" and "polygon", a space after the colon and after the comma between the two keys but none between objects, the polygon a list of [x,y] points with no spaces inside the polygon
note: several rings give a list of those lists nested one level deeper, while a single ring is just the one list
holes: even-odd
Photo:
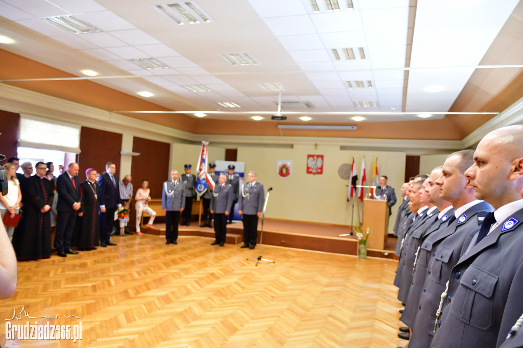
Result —
[{"label": "beige back wall section with eagle emblem and red crest", "polygon": [[[324,155],[322,175],[306,173],[306,159],[309,154]],[[338,176],[338,168],[344,163],[352,163],[353,156],[358,176],[361,160],[365,156],[368,184],[373,161],[378,156],[380,175],[388,176],[389,185],[400,195],[405,176],[404,152],[340,150],[339,146],[333,145],[319,145],[315,149],[312,144],[294,145],[293,148],[240,146],[237,160],[245,162],[246,172],[253,170],[257,173],[258,180],[264,184],[265,189],[274,189],[267,205],[267,217],[349,225],[353,204],[352,201],[347,202],[349,180]],[[292,160],[292,174],[286,179],[278,176],[276,164],[279,159]],[[399,205],[398,203],[392,208],[389,231],[394,226]],[[355,210],[354,224],[356,221]]]}]

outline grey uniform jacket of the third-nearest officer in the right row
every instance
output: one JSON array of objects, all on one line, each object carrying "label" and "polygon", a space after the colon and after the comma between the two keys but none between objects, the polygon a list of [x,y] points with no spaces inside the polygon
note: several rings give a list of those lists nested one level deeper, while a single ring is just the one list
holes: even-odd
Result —
[{"label": "grey uniform jacket of the third-nearest officer in the right row", "polygon": [[[431,225],[426,231],[416,230],[412,234],[412,238],[419,239],[419,246],[430,234],[441,233],[442,230],[447,228],[448,218],[454,213],[454,208],[450,208],[445,215]],[[417,243],[417,242],[416,242]],[[427,265],[430,260],[432,253],[427,252],[427,250],[419,248],[418,258],[416,259],[416,268],[414,265],[412,269],[414,270],[414,275],[412,277],[411,288],[408,290],[407,301],[405,302],[405,309],[400,318],[401,321],[405,323],[406,326],[412,328],[414,326],[414,319],[416,319],[416,314],[418,313],[419,305],[419,296],[423,289],[423,284],[425,283],[425,276],[427,275]],[[426,289],[425,289],[426,290]]]}]

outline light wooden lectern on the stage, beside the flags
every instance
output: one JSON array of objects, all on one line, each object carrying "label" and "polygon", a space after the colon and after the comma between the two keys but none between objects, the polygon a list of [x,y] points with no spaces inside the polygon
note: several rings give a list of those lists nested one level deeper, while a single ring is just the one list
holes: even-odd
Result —
[{"label": "light wooden lectern on the stage, beside the flags", "polygon": [[363,238],[367,236],[367,226],[370,236],[367,239],[367,249],[385,250],[389,230],[389,205],[387,201],[363,200]]}]

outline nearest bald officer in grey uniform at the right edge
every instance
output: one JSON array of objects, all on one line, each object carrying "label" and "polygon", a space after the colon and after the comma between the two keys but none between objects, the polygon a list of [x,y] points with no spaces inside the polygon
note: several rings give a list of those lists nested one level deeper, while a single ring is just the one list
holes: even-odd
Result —
[{"label": "nearest bald officer in grey uniform at the right edge", "polygon": [[465,176],[494,212],[450,272],[433,344],[497,347],[523,312],[523,125],[485,135]]}]

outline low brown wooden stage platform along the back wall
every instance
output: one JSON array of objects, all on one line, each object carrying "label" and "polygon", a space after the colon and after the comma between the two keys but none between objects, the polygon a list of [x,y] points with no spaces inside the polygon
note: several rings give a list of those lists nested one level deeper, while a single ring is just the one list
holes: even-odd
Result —
[{"label": "low brown wooden stage platform along the back wall", "polygon": [[[153,235],[165,235],[164,223],[158,221],[158,223],[154,224],[154,227],[154,229],[151,229],[143,226],[142,232]],[[258,223],[258,230],[260,228],[261,222]],[[349,234],[350,232],[351,229],[348,226],[265,218],[263,243],[287,248],[357,255],[358,239],[356,236],[338,237],[338,235]],[[190,226],[178,226],[178,235],[214,238],[214,229],[210,227],[199,227],[197,221],[191,221]],[[389,237],[385,250],[368,249],[367,256],[399,259],[394,255],[396,241],[397,238],[393,236]],[[225,243],[243,244],[242,222],[227,225]]]}]

